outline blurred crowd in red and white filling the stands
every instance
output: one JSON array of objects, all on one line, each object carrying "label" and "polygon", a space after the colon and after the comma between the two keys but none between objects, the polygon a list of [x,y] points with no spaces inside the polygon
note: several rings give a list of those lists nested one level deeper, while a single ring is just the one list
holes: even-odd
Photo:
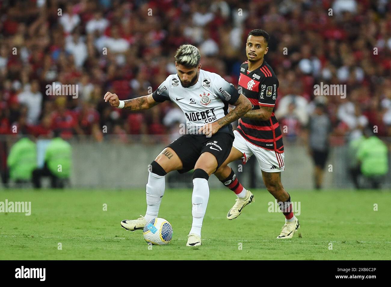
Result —
[{"label": "blurred crowd in red and white filling the stands", "polygon": [[[271,36],[265,59],[280,82],[285,141],[301,136],[317,103],[333,135],[357,138],[368,125],[391,135],[388,0],[5,0],[0,14],[0,134],[175,138],[185,118],[174,103],[131,113],[103,95],[151,93],[176,73],[183,43],[200,48],[202,69],[236,86],[246,36],[260,28]],[[315,96],[320,82],[346,84],[346,98]],[[77,98],[48,93],[52,83],[77,85]]]}]

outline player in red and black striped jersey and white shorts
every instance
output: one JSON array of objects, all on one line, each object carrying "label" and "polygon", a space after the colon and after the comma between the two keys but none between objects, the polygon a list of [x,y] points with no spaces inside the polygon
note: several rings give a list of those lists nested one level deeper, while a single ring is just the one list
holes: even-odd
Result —
[{"label": "player in red and black striped jersey and white shorts", "polygon": [[236,203],[227,214],[228,219],[234,219],[254,200],[254,195],[240,184],[228,163],[240,158],[246,163],[251,155],[255,155],[262,170],[265,186],[276,198],[285,215],[285,224],[277,237],[285,239],[292,238],[300,223],[292,212],[291,196],[281,183],[284,145],[280,125],[274,116],[278,79],[271,66],[264,60],[264,55],[269,49],[268,42],[269,34],[264,30],[252,30],[248,34],[248,61],[240,66],[239,90],[250,100],[253,108],[240,118],[239,126],[234,131],[235,140],[231,153],[215,175],[237,194]]}]

